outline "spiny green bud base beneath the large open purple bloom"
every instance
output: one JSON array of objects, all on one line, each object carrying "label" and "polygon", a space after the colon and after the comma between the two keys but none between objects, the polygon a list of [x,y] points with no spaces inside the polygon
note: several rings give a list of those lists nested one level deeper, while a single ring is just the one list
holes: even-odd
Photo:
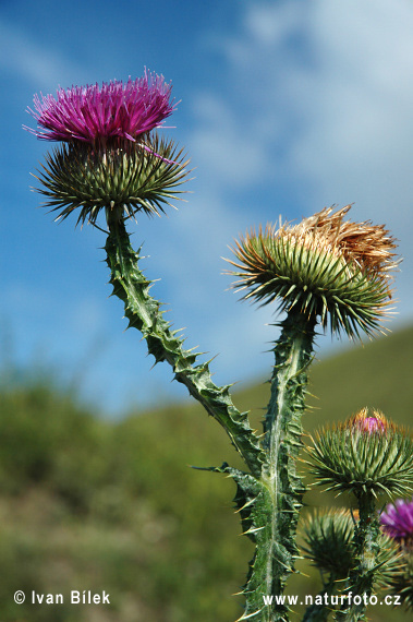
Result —
[{"label": "spiny green bud base beneath the large open purple bloom", "polygon": [[90,144],[63,143],[46,155],[44,172],[37,179],[48,198],[46,206],[66,218],[80,208],[77,223],[95,224],[101,210],[107,218],[133,217],[142,211],[160,215],[166,204],[178,199],[187,162],[173,142],[156,134],[141,141]]}]

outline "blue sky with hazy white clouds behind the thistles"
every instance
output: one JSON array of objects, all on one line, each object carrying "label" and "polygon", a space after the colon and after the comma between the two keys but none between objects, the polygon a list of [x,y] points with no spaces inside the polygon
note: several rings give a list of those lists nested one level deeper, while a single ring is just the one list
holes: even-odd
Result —
[{"label": "blue sky with hazy white clouds behind the thistles", "polygon": [[[107,412],[180,398],[108,299],[104,235],[57,225],[29,191],[46,151],[22,124],[34,93],[162,73],[181,100],[163,130],[195,168],[187,202],[142,217],[154,295],[209,356],[218,383],[269,375],[271,309],[238,302],[222,256],[253,225],[354,203],[404,256],[398,315],[413,319],[413,5],[408,0],[0,0],[1,339]],[[345,347],[318,339],[318,356]]]}]

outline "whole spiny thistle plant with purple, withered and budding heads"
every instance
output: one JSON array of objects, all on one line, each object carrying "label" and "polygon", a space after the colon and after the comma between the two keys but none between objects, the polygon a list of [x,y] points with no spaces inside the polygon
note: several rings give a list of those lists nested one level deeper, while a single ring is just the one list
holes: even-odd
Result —
[{"label": "whole spiny thistle plant with purple, withered and budding heads", "polygon": [[[234,287],[244,291],[244,298],[284,313],[274,346],[264,432],[258,434],[250,424],[248,414],[234,406],[230,386],[212,382],[209,362],[199,361],[198,354],[185,349],[184,339],[165,319],[161,303],[149,291],[153,284],[141,271],[141,249],[132,248],[126,229],[141,213],[161,215],[180,199],[187,179],[183,149],[160,134],[165,119],[175,107],[171,86],[163,77],[145,73],[126,83],[59,89],[56,98],[35,96],[34,106],[35,110],[28,111],[38,129],[31,131],[41,140],[61,143],[46,155],[37,175],[45,205],[57,212],[57,219],[73,212],[77,223],[90,223],[107,235],[110,284],[124,303],[129,326],[142,333],[155,361],[168,362],[174,379],[221,424],[245,464],[244,470],[226,462],[207,469],[234,480],[243,533],[255,545],[242,590],[240,620],[287,621],[289,609],[282,599],[267,603],[264,597],[282,596],[300,557],[296,527],[305,489],[297,457],[303,446],[302,415],[317,326],[351,339],[384,332],[382,321],[391,313],[396,241],[382,225],[348,219],[351,206],[347,205],[336,211],[324,208],[297,225],[268,225],[258,232],[251,229],[235,242],[234,258],[228,260],[228,272],[238,279]],[[98,225],[101,222],[102,227]],[[307,548],[315,550],[316,539],[321,541],[326,535],[344,538],[347,565],[341,574],[330,567],[331,593],[338,589],[339,579],[372,589],[385,564],[371,545],[372,529],[379,535],[374,499],[379,493],[404,493],[411,486],[413,463],[406,458],[411,441],[377,412],[372,418],[357,416],[336,435],[337,451],[330,462],[323,453],[323,439],[317,436],[312,454],[314,469],[332,488],[353,490],[361,518],[355,528],[345,523],[345,538],[336,523],[325,528],[321,524],[326,519],[320,518],[323,528],[317,531],[313,526],[307,531]],[[354,450],[352,465],[345,465],[340,454],[348,444]],[[369,458],[374,466],[367,465]],[[349,469],[356,468],[356,476],[349,475]],[[337,474],[340,481],[333,479]],[[367,572],[362,558],[368,547],[374,554]],[[348,614],[344,610],[341,613]],[[313,614],[325,615],[326,611]]]}]

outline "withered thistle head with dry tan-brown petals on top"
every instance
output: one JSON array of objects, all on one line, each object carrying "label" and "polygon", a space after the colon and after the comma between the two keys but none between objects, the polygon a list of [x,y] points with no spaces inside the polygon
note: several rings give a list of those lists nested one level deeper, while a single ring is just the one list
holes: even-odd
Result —
[{"label": "withered thistle head with dry tan-brown petals on top", "polygon": [[318,315],[331,332],[360,337],[380,330],[397,267],[396,241],[385,227],[344,220],[350,205],[325,208],[300,224],[267,225],[235,242],[234,287],[263,304]]}]

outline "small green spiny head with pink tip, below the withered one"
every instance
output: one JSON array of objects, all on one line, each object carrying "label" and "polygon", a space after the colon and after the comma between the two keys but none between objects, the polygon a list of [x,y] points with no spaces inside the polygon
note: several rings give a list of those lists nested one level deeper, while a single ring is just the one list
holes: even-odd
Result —
[{"label": "small green spiny head with pink tip, below the withered one", "polygon": [[315,483],[338,493],[375,497],[413,490],[413,439],[381,412],[364,408],[344,423],[318,430],[307,448]]}]

